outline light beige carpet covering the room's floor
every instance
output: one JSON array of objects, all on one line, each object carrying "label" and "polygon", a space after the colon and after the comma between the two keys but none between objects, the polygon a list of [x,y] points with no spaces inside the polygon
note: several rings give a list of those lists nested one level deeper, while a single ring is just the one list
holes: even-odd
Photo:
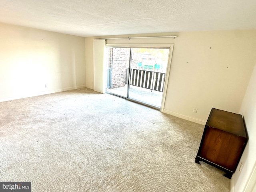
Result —
[{"label": "light beige carpet covering the room's floor", "polygon": [[0,181],[33,192],[229,192],[204,126],[82,88],[0,103]]}]

